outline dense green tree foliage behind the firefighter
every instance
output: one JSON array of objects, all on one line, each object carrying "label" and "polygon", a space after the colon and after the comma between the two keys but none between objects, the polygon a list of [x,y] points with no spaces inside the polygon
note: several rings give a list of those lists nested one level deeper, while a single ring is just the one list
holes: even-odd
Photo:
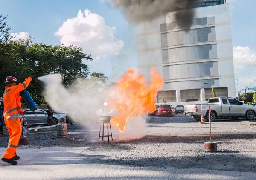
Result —
[{"label": "dense green tree foliage behind the firefighter", "polygon": [[[0,15],[0,82],[7,76],[14,76],[19,82],[34,75],[40,77],[53,73],[61,74],[63,84],[70,87],[76,78],[87,78],[89,67],[84,61],[93,61],[91,55],[83,53],[83,49],[76,46],[46,45],[27,40],[12,41],[9,34],[10,27],[6,24],[6,17]],[[100,73],[99,73],[100,74]],[[106,77],[103,74],[99,80]],[[43,98],[43,84],[36,80],[28,88],[36,103],[45,102]],[[0,86],[0,96],[4,87]],[[2,95],[1,95],[2,94]]]}]

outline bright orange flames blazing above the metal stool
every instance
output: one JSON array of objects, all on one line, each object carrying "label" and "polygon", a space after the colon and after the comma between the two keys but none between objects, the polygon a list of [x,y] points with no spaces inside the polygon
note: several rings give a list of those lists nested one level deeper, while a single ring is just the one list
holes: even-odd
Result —
[{"label": "bright orange flames blazing above the metal stool", "polygon": [[111,116],[111,122],[119,131],[125,131],[129,118],[156,110],[155,96],[164,81],[156,69],[151,70],[150,76],[151,81],[148,82],[143,75],[137,75],[134,69],[128,69],[108,92],[106,101],[117,110],[117,115]]}]

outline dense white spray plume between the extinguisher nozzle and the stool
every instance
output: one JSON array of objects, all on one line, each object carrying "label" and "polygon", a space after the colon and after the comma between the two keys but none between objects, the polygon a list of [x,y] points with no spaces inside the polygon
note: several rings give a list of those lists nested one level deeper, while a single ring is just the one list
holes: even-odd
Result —
[{"label": "dense white spray plume between the extinguisher nozzle and the stool", "polygon": [[83,125],[91,125],[97,120],[96,109],[104,102],[102,93],[88,89],[92,86],[86,79],[76,79],[72,87],[65,88],[61,75],[52,74],[38,78],[43,81],[45,98],[52,109],[61,109]]}]

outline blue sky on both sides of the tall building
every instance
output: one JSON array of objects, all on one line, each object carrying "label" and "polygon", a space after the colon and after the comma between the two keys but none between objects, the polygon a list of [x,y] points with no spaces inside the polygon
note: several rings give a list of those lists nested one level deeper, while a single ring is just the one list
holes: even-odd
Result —
[{"label": "blue sky on both sides of the tall building", "polygon": [[[239,76],[256,53],[256,20],[254,12],[256,1],[228,0],[227,2],[230,3],[231,9],[235,75]],[[99,44],[90,45],[94,41],[90,40],[88,41],[89,44],[81,44],[84,48],[88,48],[85,53],[92,53],[92,57],[96,60],[93,64],[90,64],[90,72],[105,73],[112,81],[112,66],[115,68],[116,78],[122,75],[129,67],[137,67],[134,26],[125,20],[125,17],[118,9],[111,7],[103,0],[4,0],[1,2],[0,14],[3,16],[8,15],[7,23],[11,26],[12,33],[28,32],[35,38],[34,42],[36,43],[55,45],[60,44],[61,38],[61,42],[65,44],[72,43],[73,40],[67,40],[67,37],[70,36],[74,36],[73,39],[79,38],[81,41],[87,40],[87,26],[79,29],[77,24],[72,24],[74,20],[70,20],[64,26],[64,22],[67,19],[76,18],[79,10],[84,13],[86,9],[90,10],[89,14],[91,13],[92,19],[98,18],[100,22],[100,25],[95,28],[103,29],[102,31],[99,30],[99,34],[96,34],[97,37],[104,35],[103,40],[97,39],[96,41],[107,42],[104,47],[104,53],[100,55],[98,55],[97,48],[94,48]],[[63,27],[59,29],[61,26]],[[78,34],[70,35],[67,32],[63,32],[68,27],[77,28],[76,32]],[[58,32],[59,36],[55,34],[56,32]],[[92,49],[90,49],[90,46]],[[247,78],[244,80],[242,78],[238,82],[238,90],[246,87],[256,78],[254,72],[255,70],[252,70],[249,75],[244,75]],[[253,85],[256,85],[256,83]]]}]

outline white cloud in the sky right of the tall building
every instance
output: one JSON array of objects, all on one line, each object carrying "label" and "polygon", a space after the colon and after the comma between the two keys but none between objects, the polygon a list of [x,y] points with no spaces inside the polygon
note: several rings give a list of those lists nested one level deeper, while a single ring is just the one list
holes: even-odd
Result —
[{"label": "white cloud in the sky right of the tall building", "polygon": [[[238,69],[245,69],[256,54],[255,50],[246,47],[233,47],[234,67]],[[256,58],[256,57],[255,57]],[[255,61],[256,62],[256,61]]]}]

